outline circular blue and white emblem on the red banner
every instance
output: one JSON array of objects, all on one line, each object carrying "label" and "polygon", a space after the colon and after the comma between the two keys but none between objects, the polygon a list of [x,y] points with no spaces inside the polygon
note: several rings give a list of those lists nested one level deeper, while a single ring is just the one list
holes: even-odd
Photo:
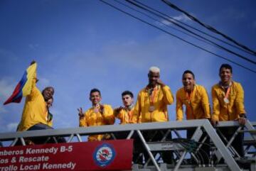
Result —
[{"label": "circular blue and white emblem on the red banner", "polygon": [[103,143],[102,145],[97,147],[95,153],[93,154],[93,159],[100,167],[110,165],[110,163],[114,160],[114,157],[114,148],[112,147],[112,145],[107,143]]}]

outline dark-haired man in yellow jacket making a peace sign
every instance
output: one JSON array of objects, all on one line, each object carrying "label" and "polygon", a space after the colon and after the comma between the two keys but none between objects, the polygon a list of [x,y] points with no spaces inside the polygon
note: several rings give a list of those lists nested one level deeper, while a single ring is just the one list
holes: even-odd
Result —
[{"label": "dark-haired man in yellow jacket making a peace sign", "polygon": [[[92,107],[82,113],[82,108],[78,109],[79,112],[79,126],[104,126],[112,125],[114,123],[113,109],[110,105],[100,104],[102,100],[100,90],[92,89],[90,91],[90,101]],[[89,136],[89,141],[102,140],[104,135]]]}]

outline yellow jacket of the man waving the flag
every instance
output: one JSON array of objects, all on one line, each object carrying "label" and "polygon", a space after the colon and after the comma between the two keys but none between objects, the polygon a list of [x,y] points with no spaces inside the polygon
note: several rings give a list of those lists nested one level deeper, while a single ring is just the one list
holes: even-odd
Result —
[{"label": "yellow jacket of the man waving the flag", "polygon": [[43,95],[36,87],[36,75],[34,75],[31,94],[26,96],[21,122],[18,124],[18,131],[26,131],[31,126],[43,123],[52,126],[52,122],[48,123],[48,110]]}]

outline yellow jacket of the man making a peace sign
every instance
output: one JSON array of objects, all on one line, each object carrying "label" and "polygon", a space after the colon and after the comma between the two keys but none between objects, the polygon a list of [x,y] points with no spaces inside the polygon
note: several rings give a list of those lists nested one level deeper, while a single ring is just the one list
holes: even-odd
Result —
[{"label": "yellow jacket of the man making a peace sign", "polygon": [[[95,113],[94,108],[91,107],[85,111],[85,117],[79,119],[79,126],[104,126],[114,124],[113,109],[110,105],[104,104],[104,112],[100,114],[100,111]],[[89,141],[102,140],[104,135],[89,136]]]}]

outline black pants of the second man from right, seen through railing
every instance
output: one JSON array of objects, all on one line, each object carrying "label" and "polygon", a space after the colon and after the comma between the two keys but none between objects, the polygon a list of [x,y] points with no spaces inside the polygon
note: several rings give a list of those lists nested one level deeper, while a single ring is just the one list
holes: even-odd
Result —
[{"label": "black pants of the second man from right, seen through railing", "polygon": [[[187,129],[187,138],[191,139],[193,136],[193,133],[195,133],[196,128],[189,128]],[[203,140],[203,138],[207,136],[206,132],[203,132],[203,135],[201,136],[201,138],[199,139],[198,143],[196,146],[201,145],[201,141]],[[206,141],[204,143],[202,143],[201,148],[198,150],[196,157],[198,158],[198,160],[201,161],[201,164],[209,164],[210,162],[210,138],[207,137]],[[193,164],[196,163],[196,161],[192,160]]]}]

